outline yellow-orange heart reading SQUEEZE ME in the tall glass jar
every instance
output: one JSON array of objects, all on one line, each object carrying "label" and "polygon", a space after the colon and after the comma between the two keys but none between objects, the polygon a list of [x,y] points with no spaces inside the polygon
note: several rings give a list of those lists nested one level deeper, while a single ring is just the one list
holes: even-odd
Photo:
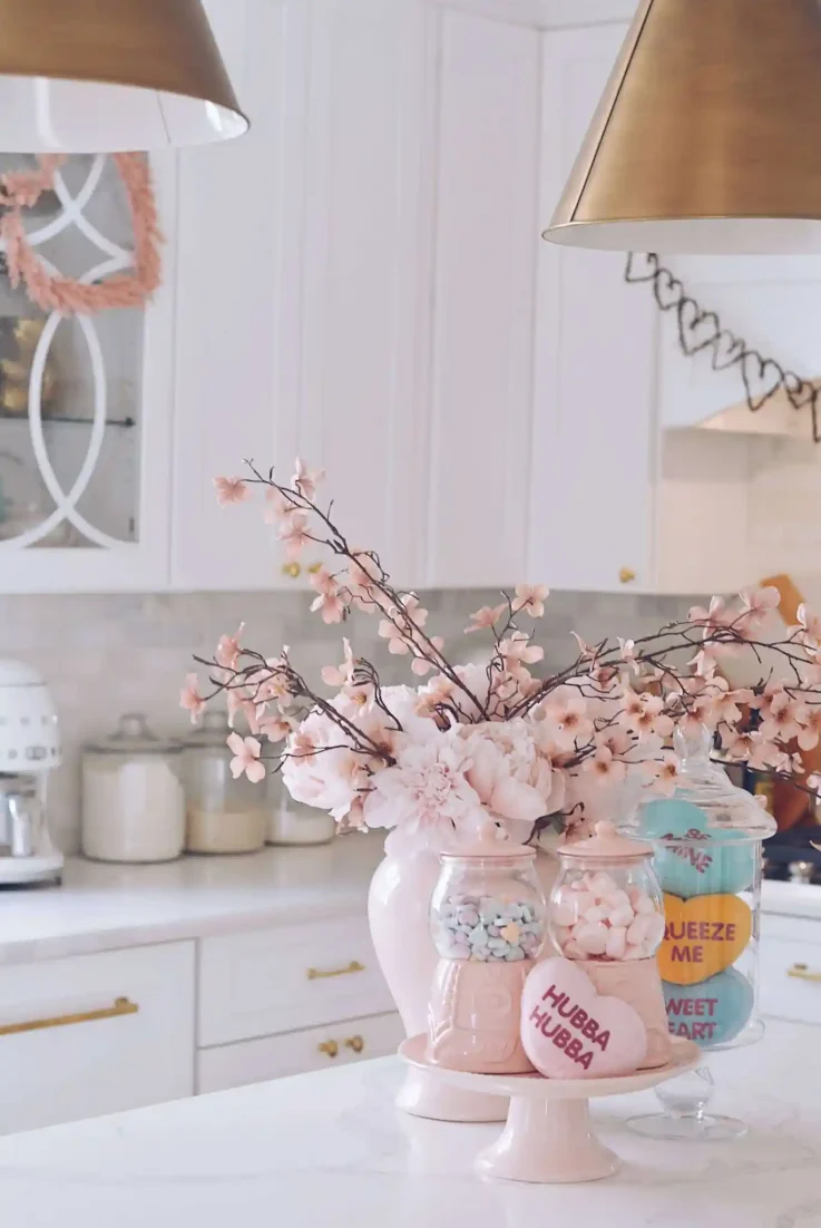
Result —
[{"label": "yellow-orange heart reading SQUEEZE ME in the tall glass jar", "polygon": [[698,985],[736,962],[752,935],[752,914],[738,895],[664,896],[661,980]]}]

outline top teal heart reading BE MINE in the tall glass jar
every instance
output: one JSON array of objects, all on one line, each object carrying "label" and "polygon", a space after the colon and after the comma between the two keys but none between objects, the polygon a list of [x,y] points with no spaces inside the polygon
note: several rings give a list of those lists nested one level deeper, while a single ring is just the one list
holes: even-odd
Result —
[{"label": "top teal heart reading BE MINE in the tall glass jar", "polygon": [[760,845],[742,831],[714,831],[692,802],[650,802],[642,810],[643,835],[657,846],[655,873],[670,895],[738,895],[752,885]]}]

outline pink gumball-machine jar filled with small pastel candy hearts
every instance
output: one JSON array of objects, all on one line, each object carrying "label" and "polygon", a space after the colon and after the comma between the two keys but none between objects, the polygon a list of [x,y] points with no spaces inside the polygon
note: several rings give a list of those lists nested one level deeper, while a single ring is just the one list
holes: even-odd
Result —
[{"label": "pink gumball-machine jar filled with small pastel candy hearts", "polygon": [[475,1074],[523,1074],[534,1067],[519,1038],[522,989],[545,941],[546,905],[535,850],[495,831],[441,856],[426,1057]]}]

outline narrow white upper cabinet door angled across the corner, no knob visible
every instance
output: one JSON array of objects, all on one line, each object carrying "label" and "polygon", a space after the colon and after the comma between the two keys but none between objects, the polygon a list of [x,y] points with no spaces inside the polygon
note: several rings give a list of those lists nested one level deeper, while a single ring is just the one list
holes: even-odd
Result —
[{"label": "narrow white upper cabinet door angled across the corner, no knob visible", "polygon": [[525,571],[539,160],[535,31],[442,25],[427,583]]}]

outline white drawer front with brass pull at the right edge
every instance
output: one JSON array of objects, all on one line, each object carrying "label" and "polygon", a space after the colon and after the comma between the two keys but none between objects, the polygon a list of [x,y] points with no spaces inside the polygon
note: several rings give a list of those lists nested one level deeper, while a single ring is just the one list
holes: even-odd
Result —
[{"label": "white drawer front with brass pull at the right edge", "polygon": [[761,1013],[796,1023],[821,1023],[821,939],[812,941],[817,922],[793,922],[801,938],[774,937],[761,941]]}]

